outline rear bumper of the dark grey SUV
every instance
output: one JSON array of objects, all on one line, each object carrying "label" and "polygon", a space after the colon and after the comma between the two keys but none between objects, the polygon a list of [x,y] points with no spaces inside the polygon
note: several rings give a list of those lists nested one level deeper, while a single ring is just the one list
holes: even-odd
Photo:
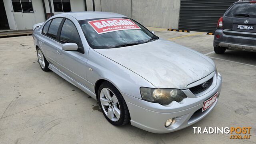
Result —
[{"label": "rear bumper of the dark grey SUV", "polygon": [[[226,33],[232,33],[232,31],[225,31]],[[240,32],[242,33],[242,32]],[[220,38],[216,38],[219,35]],[[256,38],[247,36],[235,36],[224,34],[223,30],[216,30],[214,36],[214,47],[224,47],[230,50],[243,50],[256,52]]]}]

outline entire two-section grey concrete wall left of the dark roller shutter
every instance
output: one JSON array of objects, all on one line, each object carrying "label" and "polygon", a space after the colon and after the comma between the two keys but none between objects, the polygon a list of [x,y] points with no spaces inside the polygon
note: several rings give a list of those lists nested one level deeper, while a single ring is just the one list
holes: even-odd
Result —
[{"label": "entire two-section grey concrete wall left of the dark roller shutter", "polygon": [[144,26],[178,29],[180,0],[101,0],[102,11],[123,14]]}]

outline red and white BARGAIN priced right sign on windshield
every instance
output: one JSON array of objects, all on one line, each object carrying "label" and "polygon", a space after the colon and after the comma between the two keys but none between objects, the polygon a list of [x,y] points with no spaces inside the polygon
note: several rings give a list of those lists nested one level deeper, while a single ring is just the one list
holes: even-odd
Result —
[{"label": "red and white BARGAIN priced right sign on windshield", "polygon": [[92,20],[88,24],[98,34],[104,34],[107,32],[114,32],[118,30],[140,30],[141,28],[135,24],[132,20],[126,18],[110,18],[101,20]]}]

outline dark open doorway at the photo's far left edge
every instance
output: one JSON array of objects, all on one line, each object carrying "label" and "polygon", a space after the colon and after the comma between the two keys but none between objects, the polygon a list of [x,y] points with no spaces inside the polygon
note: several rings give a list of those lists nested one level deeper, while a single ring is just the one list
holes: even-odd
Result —
[{"label": "dark open doorway at the photo's far left edge", "polygon": [[4,1],[0,0],[0,30],[9,30],[9,24],[4,8]]}]

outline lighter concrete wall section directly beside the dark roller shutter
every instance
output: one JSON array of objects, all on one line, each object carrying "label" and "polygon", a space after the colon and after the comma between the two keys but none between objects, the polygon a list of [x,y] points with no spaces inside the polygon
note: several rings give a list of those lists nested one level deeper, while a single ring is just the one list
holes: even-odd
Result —
[{"label": "lighter concrete wall section directly beside the dark roller shutter", "polygon": [[180,0],[132,0],[132,18],[144,26],[178,29]]}]

